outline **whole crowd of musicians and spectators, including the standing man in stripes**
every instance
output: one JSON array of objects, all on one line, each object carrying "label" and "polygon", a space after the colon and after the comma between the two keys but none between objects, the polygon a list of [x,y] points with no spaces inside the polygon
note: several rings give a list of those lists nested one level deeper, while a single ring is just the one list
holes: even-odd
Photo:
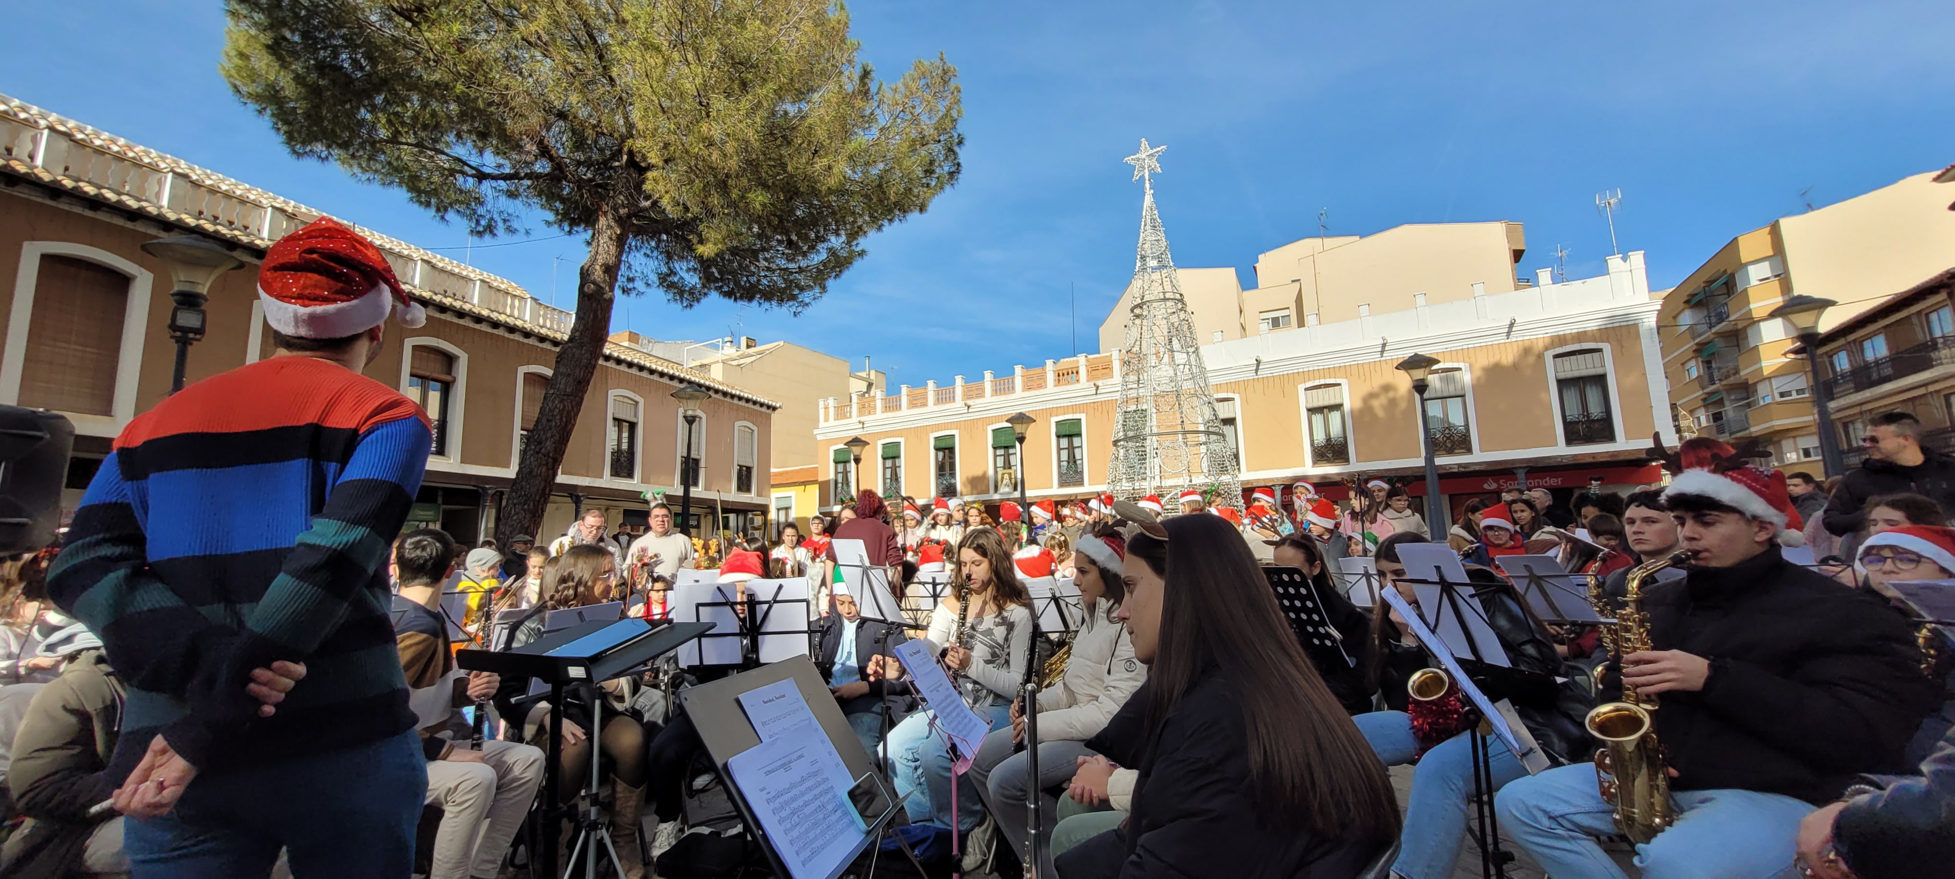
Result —
[{"label": "whole crowd of musicians and spectators, including the standing man in stripes", "polygon": [[[1030,854],[1038,803],[1052,859],[1036,869],[1062,879],[1445,877],[1472,834],[1482,736],[1478,793],[1503,834],[1552,877],[1623,877],[1621,803],[1597,785],[1586,723],[1617,701],[1646,707],[1662,742],[1666,815],[1632,848],[1646,877],[1955,863],[1955,650],[1910,615],[1906,586],[1955,578],[1955,461],[1906,414],[1873,420],[1867,463],[1838,484],[1699,438],[1668,453],[1668,484],[1517,488],[1445,529],[1372,479],[1341,508],[1296,482],[1288,508],[1265,486],[1187,490],[1173,512],[1159,496],[1021,508],[864,490],[805,535],[784,525],[716,557],[665,504],[643,533],[585,510],[547,543],[457,547],[405,529],[430,426],[362,375],[389,318],[422,318],[387,262],[323,219],[270,248],[260,297],[276,354],[139,416],[63,543],[0,570],[0,875],[495,879],[602,832],[622,875],[643,877],[714,836],[688,824],[704,742],[673,691],[751,662],[665,662],[551,703],[454,650],[532,645],[551,611],[657,619],[680,572],[708,565],[735,594],[807,578],[835,709],[907,822],[958,840],[974,875]],[[262,404],[242,418],[239,398]],[[907,623],[864,617],[856,592],[880,586],[845,574],[837,541],[890,572]],[[1787,557],[1801,545],[1812,563]],[[1458,600],[1501,660],[1458,668],[1513,707],[1546,770],[1486,738],[1462,682],[1435,678],[1425,625],[1392,602],[1435,611],[1412,547],[1462,561]],[[1499,566],[1513,555],[1593,582],[1605,621],[1539,615]],[[1269,566],[1302,572],[1333,650],[1306,647],[1322,639],[1286,617]],[[1060,580],[1079,615],[1040,631],[1032,596]],[[897,658],[911,639],[985,721],[974,760],[934,723],[948,705],[913,691],[921,668]],[[1412,766],[1404,803],[1394,766]]]}]

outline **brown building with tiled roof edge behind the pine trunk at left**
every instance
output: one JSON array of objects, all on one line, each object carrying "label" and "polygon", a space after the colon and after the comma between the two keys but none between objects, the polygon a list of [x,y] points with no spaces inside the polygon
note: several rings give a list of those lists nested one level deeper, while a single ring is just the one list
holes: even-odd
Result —
[{"label": "brown building with tiled roof edge behind the pine trunk at left", "polygon": [[[143,242],[192,232],[246,262],[209,291],[205,334],[188,352],[186,379],[197,381],[272,354],[256,262],[272,240],[321,213],[6,98],[0,184],[0,402],[74,422],[65,496],[72,510],[115,434],[170,391],[170,268]],[[473,543],[495,527],[571,314],[497,275],[362,232],[428,309],[426,326],[389,324],[385,352],[366,369],[436,422],[411,523]],[[647,496],[667,492],[676,504],[686,428],[671,393],[686,383],[710,393],[694,434],[696,518],[764,529],[780,406],[708,371],[612,344],[571,436],[543,535],[567,529],[579,506],[604,508],[616,527],[643,522]]]}]

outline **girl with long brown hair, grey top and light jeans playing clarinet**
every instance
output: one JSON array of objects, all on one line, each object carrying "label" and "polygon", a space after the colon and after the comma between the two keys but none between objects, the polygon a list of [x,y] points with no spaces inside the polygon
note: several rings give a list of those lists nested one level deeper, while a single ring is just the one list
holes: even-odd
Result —
[{"label": "girl with long brown hair, grey top and light jeans playing clarinet", "polygon": [[[950,596],[931,611],[925,641],[938,652],[964,703],[991,721],[993,731],[1007,727],[1032,645],[1032,609],[997,531],[979,527],[958,541],[958,572]],[[872,658],[870,678],[880,674],[882,664]],[[931,729],[934,717],[934,711],[919,711],[890,731],[895,793],[909,797],[903,807],[911,822],[968,832],[983,818],[983,805],[976,787],[960,781],[958,818],[950,820],[950,742]]]}]

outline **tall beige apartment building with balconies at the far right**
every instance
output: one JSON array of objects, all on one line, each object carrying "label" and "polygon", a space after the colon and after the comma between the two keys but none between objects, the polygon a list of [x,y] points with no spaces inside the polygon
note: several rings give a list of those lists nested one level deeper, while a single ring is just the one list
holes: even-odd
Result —
[{"label": "tall beige apartment building with balconies at the far right", "polygon": [[[1894,291],[1955,266],[1955,213],[1933,172],[1732,238],[1664,297],[1664,375],[1679,424],[1705,436],[1758,440],[1781,469],[1822,473],[1810,365],[1793,357],[1785,299],[1832,299],[1820,332],[1855,320]],[[1885,344],[1885,342],[1883,342]],[[1869,342],[1842,371],[1887,356]],[[1832,365],[1828,365],[1832,367]],[[1859,436],[1844,436],[1851,449]]]}]

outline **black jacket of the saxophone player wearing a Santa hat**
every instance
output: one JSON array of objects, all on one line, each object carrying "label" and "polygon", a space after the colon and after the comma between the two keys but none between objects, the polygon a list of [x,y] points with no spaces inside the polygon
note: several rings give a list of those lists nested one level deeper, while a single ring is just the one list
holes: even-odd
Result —
[{"label": "black jacket of the saxophone player wearing a Santa hat", "polygon": [[[1711,660],[1703,690],[1660,695],[1656,734],[1679,791],[1828,803],[1857,774],[1904,770],[1902,748],[1939,695],[1900,613],[1777,547],[1650,584],[1642,609],[1656,650]],[[1603,697],[1619,684],[1611,672]]]}]

